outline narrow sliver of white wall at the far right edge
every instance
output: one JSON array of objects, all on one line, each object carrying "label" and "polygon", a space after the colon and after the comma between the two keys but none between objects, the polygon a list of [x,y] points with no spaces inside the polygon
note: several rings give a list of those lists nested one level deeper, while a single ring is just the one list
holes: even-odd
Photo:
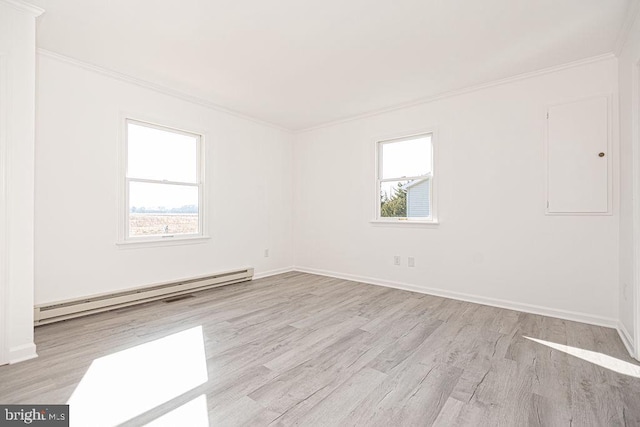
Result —
[{"label": "narrow sliver of white wall at the far right edge", "polygon": [[[620,83],[620,323],[623,337],[640,358],[640,20],[636,19],[619,56]],[[634,172],[635,170],[635,172]],[[635,197],[634,197],[635,195]],[[635,306],[634,306],[635,305]]]}]

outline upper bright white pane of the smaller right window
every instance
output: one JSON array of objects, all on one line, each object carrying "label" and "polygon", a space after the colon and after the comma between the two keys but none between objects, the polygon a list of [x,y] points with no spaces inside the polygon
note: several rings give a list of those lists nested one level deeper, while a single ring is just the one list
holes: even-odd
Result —
[{"label": "upper bright white pane of the smaller right window", "polygon": [[382,144],[382,179],[420,176],[431,172],[431,136]]}]

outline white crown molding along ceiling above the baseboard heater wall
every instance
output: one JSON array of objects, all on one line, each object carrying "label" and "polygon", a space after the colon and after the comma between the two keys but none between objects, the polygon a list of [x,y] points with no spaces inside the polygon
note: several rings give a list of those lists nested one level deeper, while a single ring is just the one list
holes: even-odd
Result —
[{"label": "white crown molding along ceiling above the baseboard heater wall", "polygon": [[[6,0],[0,0],[0,1],[6,1]],[[59,53],[56,53],[56,52],[53,52],[53,51],[50,51],[50,50],[47,50],[47,49],[38,48],[37,49],[37,53],[38,53],[38,55],[41,55],[41,56],[44,56],[44,57],[47,57],[47,58],[51,58],[51,59],[54,59],[54,60],[57,60],[57,61],[60,61],[60,62],[64,62],[64,63],[70,64],[70,65],[73,65],[73,66],[76,66],[76,67],[79,67],[79,68],[82,68],[82,69],[85,69],[85,70],[88,70],[88,71],[92,71],[94,73],[101,74],[101,75],[106,76],[106,77],[111,77],[113,79],[120,80],[120,81],[125,82],[125,83],[129,83],[129,84],[133,84],[133,85],[136,85],[136,86],[140,86],[140,87],[143,87],[145,89],[150,89],[150,90],[152,90],[154,92],[162,93],[164,95],[168,95],[168,96],[171,96],[171,97],[174,97],[174,98],[178,98],[180,100],[187,101],[187,102],[190,102],[192,104],[200,105],[202,107],[209,108],[211,110],[215,110],[215,111],[220,112],[220,113],[228,114],[228,115],[231,115],[231,116],[234,116],[234,117],[238,117],[238,118],[241,118],[241,119],[253,122],[253,123],[257,123],[257,124],[260,124],[260,125],[263,125],[263,126],[268,126],[268,127],[274,128],[274,129],[278,129],[278,130],[280,130],[282,132],[292,133],[291,129],[287,129],[287,128],[282,127],[282,126],[278,126],[278,125],[276,125],[274,123],[265,122],[263,120],[256,119],[255,117],[247,116],[247,115],[242,114],[242,113],[240,113],[238,111],[234,111],[234,110],[225,108],[225,107],[223,107],[223,106],[221,106],[219,104],[216,104],[216,103],[214,103],[212,101],[209,101],[208,99],[201,98],[201,97],[198,97],[198,96],[195,96],[195,95],[191,95],[189,93],[182,92],[180,90],[172,89],[170,87],[163,86],[163,85],[160,85],[160,84],[157,84],[157,83],[153,83],[153,82],[150,82],[148,80],[139,79],[137,77],[133,77],[133,76],[130,76],[128,74],[124,74],[124,73],[121,73],[121,72],[118,72],[118,71],[113,71],[113,70],[110,70],[108,68],[104,68],[104,67],[101,67],[101,66],[98,66],[98,65],[90,64],[88,62],[80,61],[78,59],[71,58],[71,57],[66,56],[66,55],[61,55]]]}]

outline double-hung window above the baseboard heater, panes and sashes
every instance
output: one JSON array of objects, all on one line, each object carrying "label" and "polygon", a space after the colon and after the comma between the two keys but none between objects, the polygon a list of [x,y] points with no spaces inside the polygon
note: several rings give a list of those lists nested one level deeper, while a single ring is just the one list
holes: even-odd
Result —
[{"label": "double-hung window above the baseboard heater, panes and sashes", "polygon": [[202,236],[202,136],[126,120],[125,241]]}]

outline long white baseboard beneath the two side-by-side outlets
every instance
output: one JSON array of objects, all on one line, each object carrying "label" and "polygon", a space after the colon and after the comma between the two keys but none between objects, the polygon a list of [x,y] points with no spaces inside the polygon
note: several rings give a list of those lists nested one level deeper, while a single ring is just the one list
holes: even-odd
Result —
[{"label": "long white baseboard beneath the two side-by-side outlets", "polygon": [[321,276],[335,277],[337,279],[351,280],[354,282],[362,282],[370,285],[385,286],[388,288],[402,289],[404,291],[418,292],[421,294],[434,295],[443,298],[451,298],[460,301],[473,302],[476,304],[489,305],[492,307],[506,308],[508,310],[522,311],[525,313],[539,314],[541,316],[556,317],[558,319],[572,320],[574,322],[588,323],[590,325],[604,326],[616,329],[618,320],[603,316],[596,316],[587,313],[580,313],[568,310],[559,310],[555,308],[543,307],[533,304],[524,304],[515,301],[502,300],[497,298],[484,297],[480,295],[466,294],[462,292],[454,292],[446,289],[429,288],[425,286],[417,286],[409,283],[393,282],[388,280],[380,280],[372,277],[356,276],[353,274],[338,273],[335,271],[319,270],[315,268],[296,266],[295,271],[302,273],[318,274]]}]

